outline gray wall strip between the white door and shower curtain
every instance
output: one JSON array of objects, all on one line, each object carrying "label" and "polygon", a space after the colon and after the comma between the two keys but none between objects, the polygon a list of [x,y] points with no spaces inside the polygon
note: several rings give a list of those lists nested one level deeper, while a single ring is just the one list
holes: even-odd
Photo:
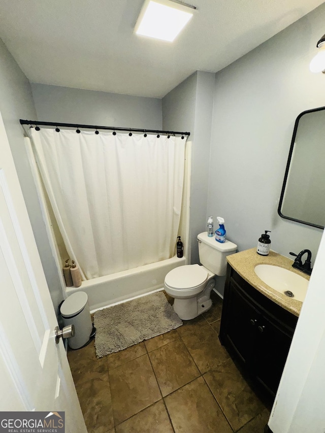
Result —
[{"label": "gray wall strip between the white door and shower curtain", "polygon": [[55,262],[47,242],[46,228],[24,147],[21,118],[36,118],[30,84],[18,64],[0,40],[0,111],[15,161],[31,226],[40,252],[54,308],[62,298]]}]

